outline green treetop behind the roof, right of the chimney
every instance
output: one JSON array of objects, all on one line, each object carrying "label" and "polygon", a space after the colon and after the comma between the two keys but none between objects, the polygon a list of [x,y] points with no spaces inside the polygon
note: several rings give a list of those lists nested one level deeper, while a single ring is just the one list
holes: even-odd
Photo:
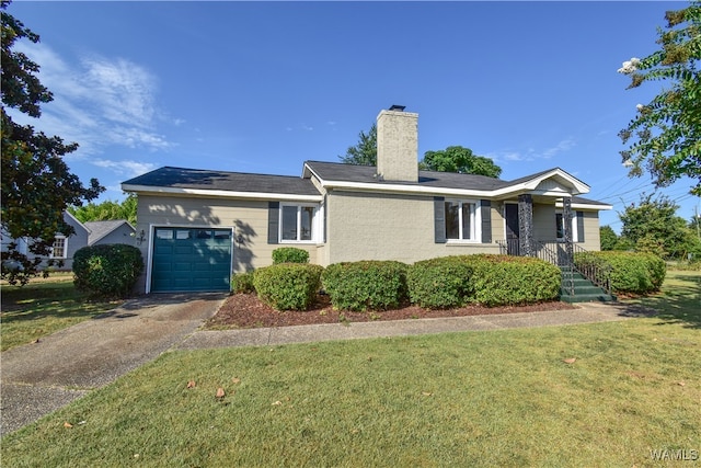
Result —
[{"label": "green treetop behind the roof, right of the chimney", "polygon": [[498,179],[502,168],[490,158],[472,153],[470,148],[449,146],[440,151],[426,151],[420,168],[438,172],[486,175]]}]

